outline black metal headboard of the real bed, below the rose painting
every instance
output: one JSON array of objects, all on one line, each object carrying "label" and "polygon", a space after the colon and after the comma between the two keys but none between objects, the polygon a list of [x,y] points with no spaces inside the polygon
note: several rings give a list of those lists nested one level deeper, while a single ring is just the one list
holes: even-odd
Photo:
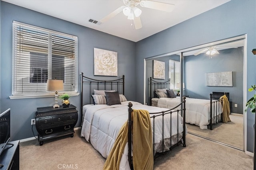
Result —
[{"label": "black metal headboard of the real bed, below the rose painting", "polygon": [[[81,72],[81,108],[84,104],[92,104],[92,94],[94,90],[116,90],[119,94],[124,94],[124,75],[115,80],[96,80],[84,76]],[[109,77],[108,77],[109,78]],[[82,111],[82,110],[81,110]]]}]

